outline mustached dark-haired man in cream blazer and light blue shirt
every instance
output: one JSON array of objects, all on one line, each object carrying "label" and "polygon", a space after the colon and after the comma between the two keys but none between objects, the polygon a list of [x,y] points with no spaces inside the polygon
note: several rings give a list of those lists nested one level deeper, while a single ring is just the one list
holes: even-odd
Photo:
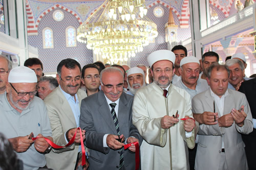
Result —
[{"label": "mustached dark-haired man in cream blazer and light blue shirt", "polygon": [[[53,141],[57,145],[65,146],[76,131],[77,133],[71,147],[53,150],[46,155],[47,167],[54,170],[73,170],[76,168],[81,151],[80,133],[77,130],[81,100],[87,97],[86,92],[79,89],[81,83],[80,64],[73,59],[62,60],[57,66],[56,78],[59,86],[44,100],[50,118]],[[82,136],[84,139],[84,131],[82,131]]]}]

